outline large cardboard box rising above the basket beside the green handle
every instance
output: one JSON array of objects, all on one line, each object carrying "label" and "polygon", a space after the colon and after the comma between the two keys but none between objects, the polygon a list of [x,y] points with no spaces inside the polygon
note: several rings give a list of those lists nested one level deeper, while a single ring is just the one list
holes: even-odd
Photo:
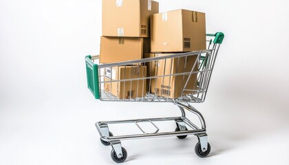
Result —
[{"label": "large cardboard box rising above the basket beside the green handle", "polygon": [[205,49],[204,13],[173,10],[151,16],[151,52],[191,52]]}]

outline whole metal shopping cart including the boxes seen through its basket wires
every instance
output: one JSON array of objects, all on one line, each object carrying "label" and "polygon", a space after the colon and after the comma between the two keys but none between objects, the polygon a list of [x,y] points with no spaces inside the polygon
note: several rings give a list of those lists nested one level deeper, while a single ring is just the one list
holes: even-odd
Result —
[{"label": "whole metal shopping cart including the boxes seen through its basket wires", "polygon": [[[196,135],[199,142],[195,146],[195,153],[199,157],[206,157],[210,153],[211,146],[208,143],[204,118],[189,104],[204,102],[224,34],[207,34],[207,38],[208,49],[195,52],[100,65],[96,64],[98,56],[85,57],[87,86],[96,99],[119,102],[172,102],[182,113],[179,117],[96,122],[100,141],[104,145],[112,146],[111,158],[115,162],[124,162],[127,158],[127,151],[121,146],[120,140],[145,137],[177,136],[183,139],[187,135]],[[172,89],[173,86],[175,89]],[[197,116],[201,128],[186,118],[185,110]],[[155,122],[163,121],[174,121],[177,124],[175,131],[159,132]],[[146,133],[140,127],[141,122],[151,123],[156,131]],[[109,131],[109,124],[123,123],[136,124],[142,133],[114,136]]]}]

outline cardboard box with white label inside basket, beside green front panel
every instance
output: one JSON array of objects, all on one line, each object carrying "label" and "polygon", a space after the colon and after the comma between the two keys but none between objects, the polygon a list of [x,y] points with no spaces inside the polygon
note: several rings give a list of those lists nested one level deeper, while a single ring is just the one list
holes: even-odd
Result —
[{"label": "cardboard box with white label inside basket, beside green front panel", "polygon": [[146,66],[120,66],[105,69],[105,82],[109,80],[125,80],[104,83],[105,91],[120,99],[140,98],[146,94],[146,80],[129,80],[144,78],[147,75]]}]

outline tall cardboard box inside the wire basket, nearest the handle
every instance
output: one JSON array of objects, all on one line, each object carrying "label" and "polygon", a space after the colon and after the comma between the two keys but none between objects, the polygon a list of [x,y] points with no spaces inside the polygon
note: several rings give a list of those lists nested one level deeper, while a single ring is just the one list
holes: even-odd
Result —
[{"label": "tall cardboard box inside the wire basket, nearest the handle", "polygon": [[[168,56],[170,54],[144,54],[144,58],[155,56]],[[178,98],[182,96],[182,90],[189,76],[166,76],[169,74],[181,74],[191,72],[197,56],[167,58],[166,60],[153,61],[147,63],[147,88],[156,96],[164,96],[167,98]],[[193,69],[197,71],[197,63]],[[149,78],[151,76],[162,76],[158,78]],[[197,89],[197,74],[192,74],[186,89]],[[184,91],[183,94],[191,94],[193,91]]]}]

